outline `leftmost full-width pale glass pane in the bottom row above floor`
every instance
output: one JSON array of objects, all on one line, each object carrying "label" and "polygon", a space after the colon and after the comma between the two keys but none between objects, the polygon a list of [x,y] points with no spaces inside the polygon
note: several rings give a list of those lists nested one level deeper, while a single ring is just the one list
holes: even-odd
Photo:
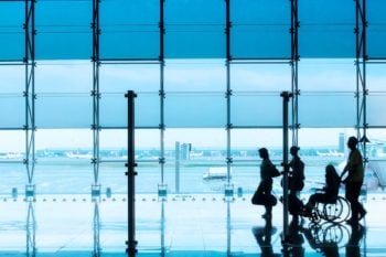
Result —
[{"label": "leftmost full-width pale glass pane in the bottom row above floor", "polygon": [[89,194],[93,176],[90,129],[40,129],[36,131],[36,192]]}]

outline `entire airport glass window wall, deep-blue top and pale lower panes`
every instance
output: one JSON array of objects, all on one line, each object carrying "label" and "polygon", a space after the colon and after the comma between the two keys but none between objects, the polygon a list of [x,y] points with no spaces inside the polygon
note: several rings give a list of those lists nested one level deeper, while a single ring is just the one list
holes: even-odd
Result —
[{"label": "entire airport glass window wall, deep-blue top and pale lower panes", "polygon": [[[93,34],[89,26],[95,21],[93,1],[39,1],[37,33],[30,33],[36,39],[36,192],[89,193],[95,180],[96,67],[100,93],[98,179],[104,191],[127,190],[124,94],[132,89],[138,94],[138,192],[157,193],[159,185],[167,184],[170,193],[223,193],[227,183],[251,192],[258,183],[257,148],[268,147],[275,163],[281,162],[279,94],[293,90],[294,62],[299,65],[299,105],[290,117],[299,118],[296,140],[310,167],[308,172],[320,179],[326,163],[345,160],[345,137],[363,129],[356,117],[362,108],[356,96],[363,92],[356,88],[355,7],[352,1],[333,2],[299,1],[302,26],[297,63],[291,60],[288,33],[290,1],[230,1],[232,26],[223,0],[164,1],[164,20],[158,0],[100,1],[100,34]],[[384,49],[377,39],[383,39],[385,31],[385,18],[379,14],[385,8],[376,0],[368,3],[368,54],[382,58]],[[0,50],[6,64],[0,66],[1,170],[9,171],[0,175],[1,192],[8,194],[11,188],[22,192],[26,183],[25,17],[23,1],[0,4],[4,7],[0,8],[4,24],[0,36],[12,45]],[[93,35],[98,35],[99,45]],[[95,47],[99,56],[90,62]],[[386,152],[386,121],[379,114],[386,93],[384,68],[380,62],[367,64],[369,161],[384,160]],[[208,168],[225,169],[227,164],[230,170],[225,179],[203,178]],[[82,180],[76,186],[66,186],[71,183],[67,179],[74,176]],[[197,183],[192,183],[192,178]]]}]

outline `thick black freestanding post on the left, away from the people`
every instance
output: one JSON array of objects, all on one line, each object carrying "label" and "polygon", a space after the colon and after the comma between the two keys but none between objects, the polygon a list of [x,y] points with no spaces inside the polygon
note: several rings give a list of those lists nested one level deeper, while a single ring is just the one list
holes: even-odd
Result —
[{"label": "thick black freestanding post on the left, away from the people", "polygon": [[136,175],[135,168],[136,163],[136,150],[135,150],[135,98],[137,95],[132,90],[128,90],[125,95],[127,98],[127,189],[128,189],[128,240],[126,253],[128,256],[135,256],[137,253],[137,240],[136,240]]}]

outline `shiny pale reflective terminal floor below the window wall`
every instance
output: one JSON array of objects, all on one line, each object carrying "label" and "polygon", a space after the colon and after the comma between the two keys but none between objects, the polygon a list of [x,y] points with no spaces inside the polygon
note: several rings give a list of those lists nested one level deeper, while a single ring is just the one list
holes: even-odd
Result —
[{"label": "shiny pale reflective terminal floor below the window wall", "polygon": [[[249,199],[137,195],[137,256],[386,256],[386,194],[367,196],[358,225],[290,224],[287,244],[282,205],[267,223]],[[127,204],[126,195],[0,196],[0,256],[127,256]]]}]

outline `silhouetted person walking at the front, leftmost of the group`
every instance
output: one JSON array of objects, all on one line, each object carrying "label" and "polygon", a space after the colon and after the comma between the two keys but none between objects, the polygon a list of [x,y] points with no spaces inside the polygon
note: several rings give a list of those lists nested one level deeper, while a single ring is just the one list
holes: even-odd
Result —
[{"label": "silhouetted person walking at the front, leftmost of the group", "polygon": [[280,175],[274,163],[269,160],[268,150],[260,148],[259,157],[262,159],[260,164],[260,183],[251,199],[253,204],[264,205],[266,213],[264,218],[271,218],[272,206],[277,204],[276,197],[272,195],[272,178]]}]

